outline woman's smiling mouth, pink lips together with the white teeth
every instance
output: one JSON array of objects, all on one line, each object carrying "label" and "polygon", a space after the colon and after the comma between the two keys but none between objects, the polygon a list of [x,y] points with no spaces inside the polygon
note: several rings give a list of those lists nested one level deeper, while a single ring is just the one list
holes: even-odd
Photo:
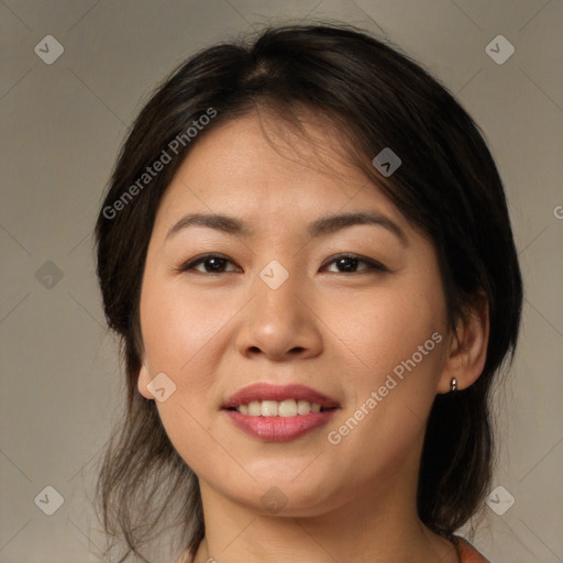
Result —
[{"label": "woman's smiling mouth, pink lips together with the white teeth", "polygon": [[236,428],[263,441],[288,441],[325,424],[340,404],[302,385],[254,384],[222,406]]}]

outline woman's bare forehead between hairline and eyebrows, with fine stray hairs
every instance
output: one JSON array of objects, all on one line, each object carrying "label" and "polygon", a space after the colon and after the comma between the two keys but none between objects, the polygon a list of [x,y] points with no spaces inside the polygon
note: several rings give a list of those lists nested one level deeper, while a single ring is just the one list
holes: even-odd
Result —
[{"label": "woman's bare forehead between hairline and eyebrows, with fine stray hairs", "polygon": [[393,202],[352,165],[332,123],[306,115],[300,125],[253,112],[205,132],[176,172],[157,225],[191,210],[289,224],[368,208],[407,227]]}]

